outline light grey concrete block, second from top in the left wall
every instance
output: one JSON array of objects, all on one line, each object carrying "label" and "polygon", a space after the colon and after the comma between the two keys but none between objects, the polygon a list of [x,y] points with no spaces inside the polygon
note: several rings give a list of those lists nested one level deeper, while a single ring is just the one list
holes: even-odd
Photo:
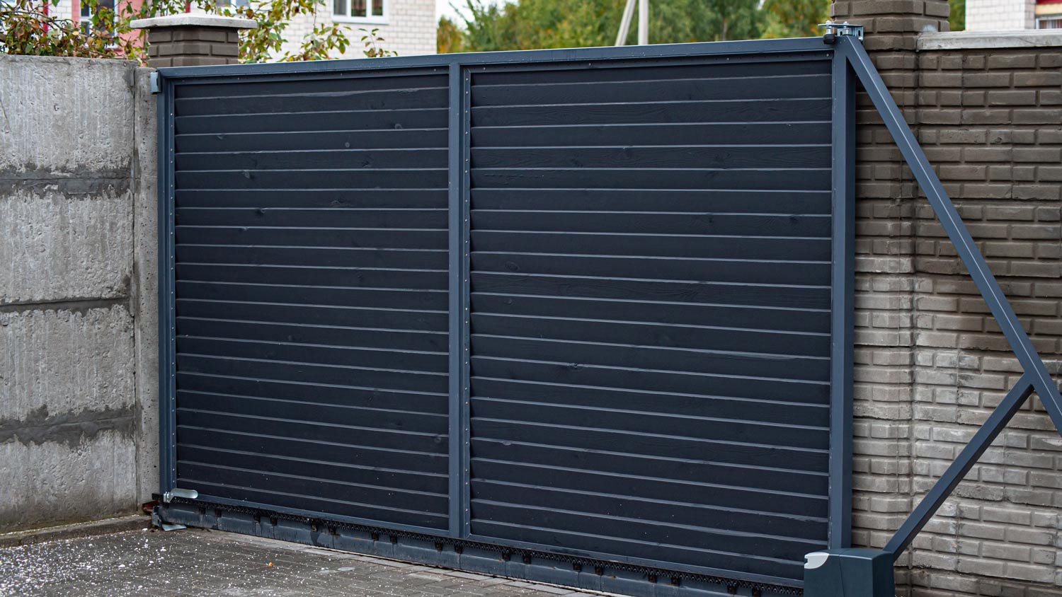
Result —
[{"label": "light grey concrete block, second from top in the left wall", "polygon": [[0,180],[0,304],[129,296],[129,179]]}]

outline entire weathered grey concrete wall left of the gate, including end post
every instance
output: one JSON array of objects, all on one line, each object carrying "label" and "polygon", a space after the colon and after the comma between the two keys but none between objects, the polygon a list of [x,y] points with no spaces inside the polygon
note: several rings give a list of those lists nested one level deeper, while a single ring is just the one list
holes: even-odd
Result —
[{"label": "entire weathered grey concrete wall left of the gate, including end post", "polygon": [[136,208],[154,193],[154,118],[133,63],[0,56],[0,531],[150,498],[156,399],[137,390],[157,371],[155,265],[136,247],[154,223],[137,241]]}]

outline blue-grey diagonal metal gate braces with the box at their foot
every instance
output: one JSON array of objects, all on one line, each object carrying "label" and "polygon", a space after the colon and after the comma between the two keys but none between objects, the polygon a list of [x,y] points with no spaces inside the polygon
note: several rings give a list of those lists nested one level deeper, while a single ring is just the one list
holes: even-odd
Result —
[{"label": "blue-grey diagonal metal gate braces with the box at their foot", "polygon": [[[907,549],[914,537],[944,504],[955,487],[1033,391],[1040,397],[1055,426],[1062,434],[1062,394],[1059,393],[1059,388],[1047,372],[1047,367],[1044,366],[1043,359],[1022,328],[1017,315],[1007,301],[955,205],[944,191],[940,178],[933,172],[914,134],[904,120],[900,107],[889,94],[867,50],[856,41],[857,38],[862,39],[862,36],[857,37],[844,30],[846,27],[853,27],[847,23],[842,25],[827,23],[827,27],[829,29],[826,35],[832,36],[833,41],[826,42],[833,42],[837,48],[835,59],[844,60],[862,83],[863,89],[885,121],[904,160],[914,174],[922,192],[929,199],[933,213],[955,245],[962,263],[970,270],[970,277],[988,303],[989,310],[1024,370],[1017,384],[1007,393],[884,549],[830,549],[808,554],[806,557],[804,594],[807,597],[893,597],[895,586],[892,566],[896,559]],[[859,33],[861,34],[861,31]]]}]

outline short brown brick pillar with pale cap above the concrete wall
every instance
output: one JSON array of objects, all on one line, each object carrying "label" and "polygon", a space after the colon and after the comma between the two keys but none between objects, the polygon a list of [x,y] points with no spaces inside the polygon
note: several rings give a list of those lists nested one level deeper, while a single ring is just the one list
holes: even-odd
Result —
[{"label": "short brown brick pillar with pale cap above the concrete wall", "polygon": [[240,55],[239,31],[258,27],[250,19],[187,13],[131,24],[148,30],[149,66],[154,68],[235,65]]}]

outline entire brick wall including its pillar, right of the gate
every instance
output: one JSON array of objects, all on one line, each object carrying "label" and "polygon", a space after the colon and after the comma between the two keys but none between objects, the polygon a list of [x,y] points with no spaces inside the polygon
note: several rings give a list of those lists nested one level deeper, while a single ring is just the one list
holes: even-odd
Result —
[{"label": "entire brick wall including its pillar, right of the gate", "polygon": [[[883,78],[1059,372],[1062,37],[972,49],[983,40],[956,35],[919,51],[918,33],[946,28],[943,2],[854,0],[833,14],[868,25]],[[853,540],[880,547],[1018,369],[890,136],[859,108]],[[901,560],[897,592],[1062,594],[1059,450],[1039,403],[1026,407]]]}]

